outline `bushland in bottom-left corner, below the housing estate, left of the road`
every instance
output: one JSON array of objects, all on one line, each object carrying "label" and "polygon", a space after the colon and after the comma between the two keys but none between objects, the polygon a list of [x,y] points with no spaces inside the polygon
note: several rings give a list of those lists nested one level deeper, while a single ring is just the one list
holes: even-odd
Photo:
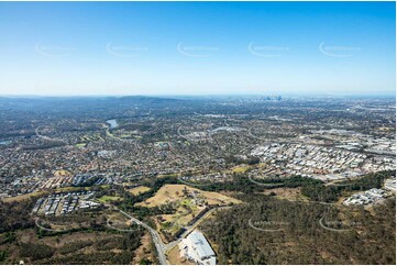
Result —
[{"label": "bushland in bottom-left corner, below the housing estate, left of the road", "polygon": [[[31,217],[35,201],[35,198],[31,198],[0,202],[0,264],[15,264],[20,259],[29,264],[131,264],[144,230],[130,233],[110,230],[106,226],[106,215],[96,209],[46,217],[45,221],[55,224],[80,226],[62,232],[43,231],[35,226]],[[76,239],[59,244],[63,237],[74,234],[81,236],[81,233],[96,236],[92,241]],[[58,240],[57,245],[53,244],[55,239]]]}]

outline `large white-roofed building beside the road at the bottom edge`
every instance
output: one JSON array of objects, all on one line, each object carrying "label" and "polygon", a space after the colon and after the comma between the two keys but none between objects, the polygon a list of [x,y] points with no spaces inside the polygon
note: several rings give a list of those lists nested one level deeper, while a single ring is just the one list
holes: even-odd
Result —
[{"label": "large white-roofed building beside the road at the bottom edge", "polygon": [[217,257],[212,247],[199,231],[191,232],[179,243],[180,256],[201,265],[216,265]]}]

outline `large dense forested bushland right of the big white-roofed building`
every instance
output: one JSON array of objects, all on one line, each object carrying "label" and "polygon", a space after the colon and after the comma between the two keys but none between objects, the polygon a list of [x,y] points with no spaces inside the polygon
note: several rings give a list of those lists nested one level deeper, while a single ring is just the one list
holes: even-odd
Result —
[{"label": "large dense forested bushland right of the big white-roofed building", "polygon": [[[263,195],[240,199],[247,203],[219,211],[201,228],[216,244],[219,264],[396,263],[395,198],[374,207],[374,214]],[[322,228],[321,218],[345,231]]]}]

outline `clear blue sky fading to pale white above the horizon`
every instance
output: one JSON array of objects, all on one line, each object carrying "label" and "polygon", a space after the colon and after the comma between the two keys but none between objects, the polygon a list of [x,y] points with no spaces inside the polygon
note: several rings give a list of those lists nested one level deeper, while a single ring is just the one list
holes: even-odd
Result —
[{"label": "clear blue sky fading to pale white above the horizon", "polygon": [[0,95],[395,95],[394,2],[1,2]]}]

